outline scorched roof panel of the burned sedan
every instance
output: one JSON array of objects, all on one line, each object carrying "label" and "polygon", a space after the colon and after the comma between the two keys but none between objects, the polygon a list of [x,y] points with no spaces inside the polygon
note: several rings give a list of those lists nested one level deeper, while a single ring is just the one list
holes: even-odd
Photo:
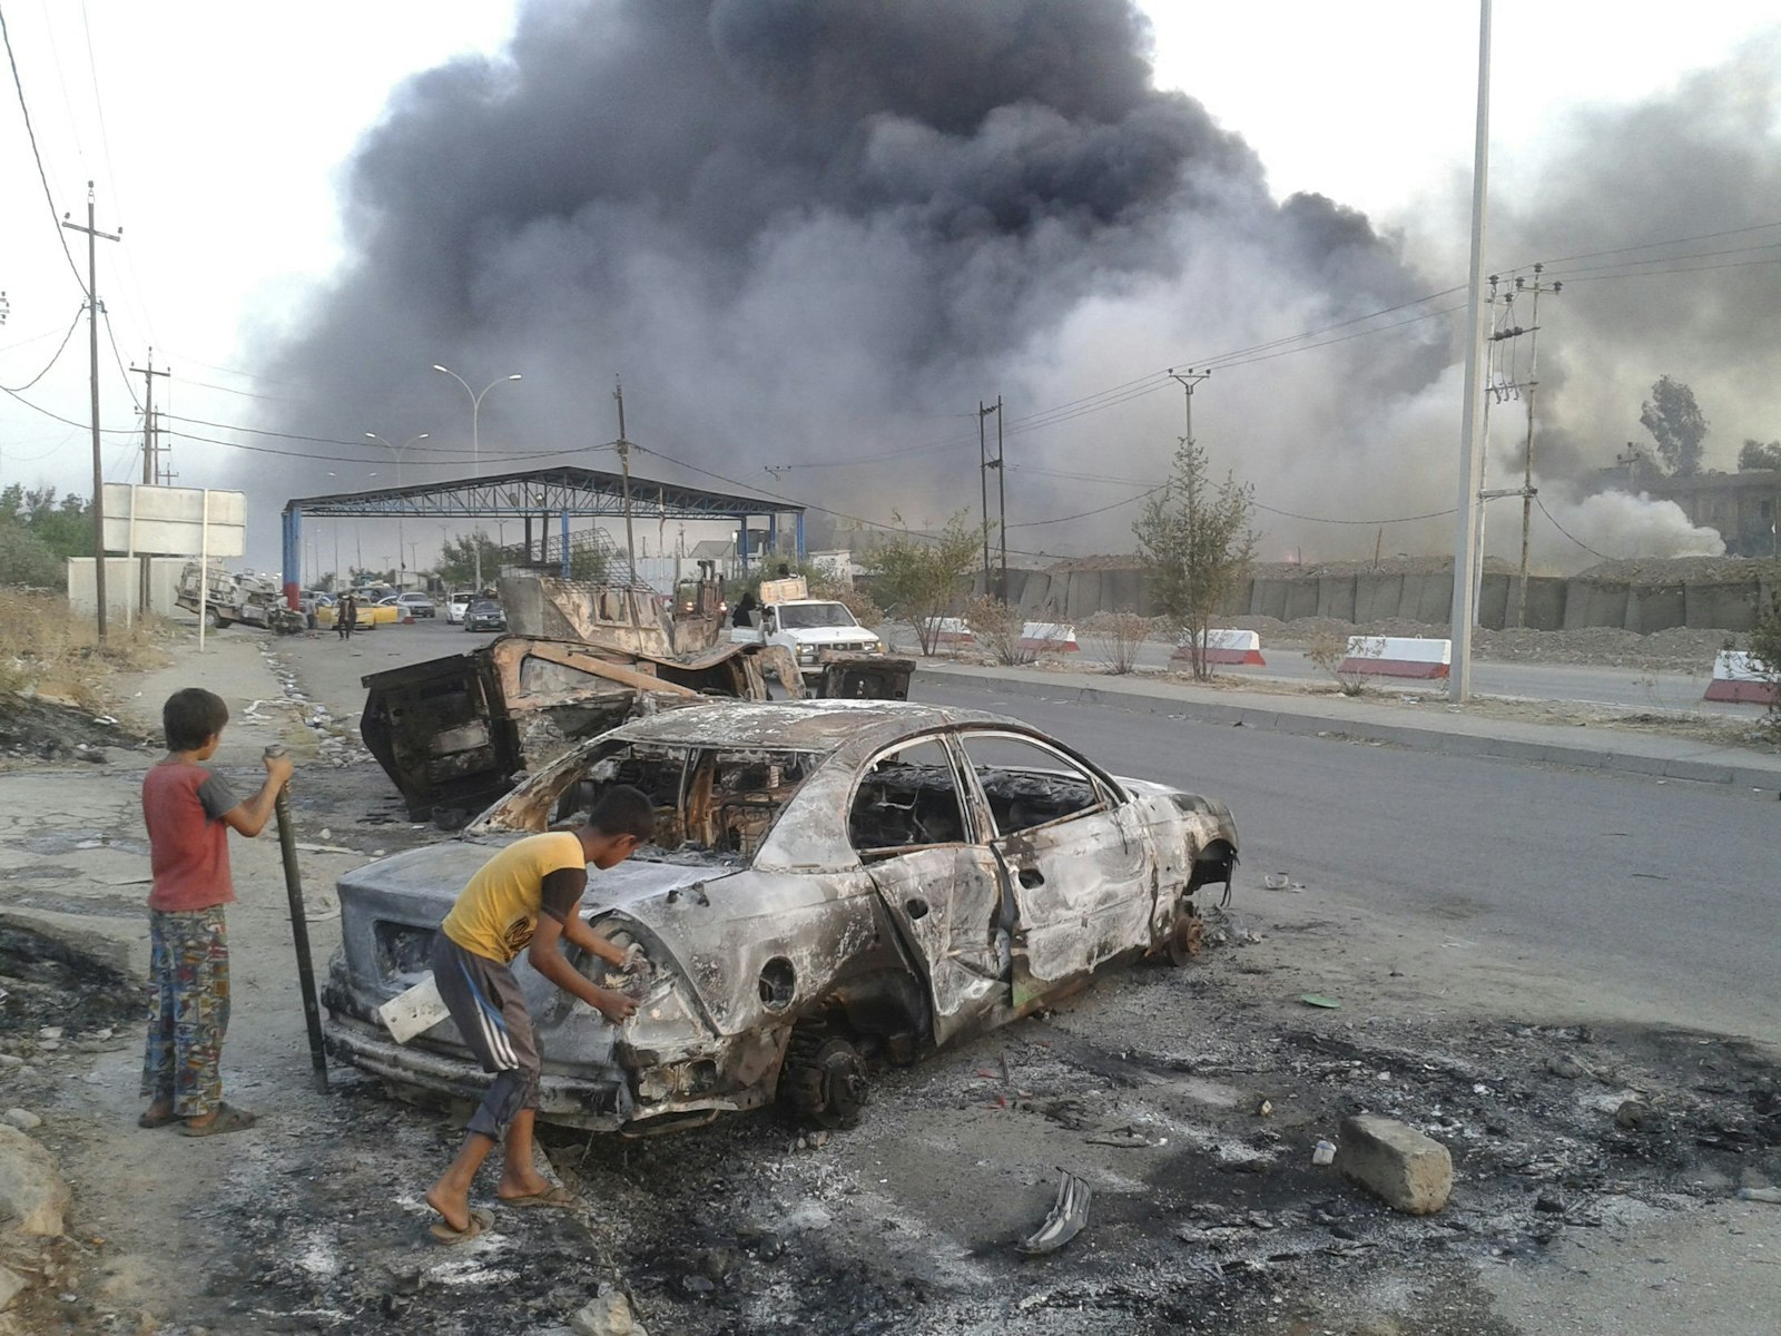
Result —
[{"label": "scorched roof panel of the burned sedan", "polygon": [[976,709],[942,709],[910,700],[789,700],[693,705],[627,723],[606,739],[682,746],[759,746],[780,752],[834,752],[842,743],[889,745],[898,737],[960,723],[1028,725]]}]

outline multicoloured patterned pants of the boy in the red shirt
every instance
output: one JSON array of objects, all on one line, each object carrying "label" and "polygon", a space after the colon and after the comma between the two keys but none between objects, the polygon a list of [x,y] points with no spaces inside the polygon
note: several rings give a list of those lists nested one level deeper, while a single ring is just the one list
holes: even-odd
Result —
[{"label": "multicoloured patterned pants of the boy in the red shirt", "polygon": [[142,1096],[171,1101],[182,1119],[223,1103],[228,1031],[228,928],[223,907],[148,912],[148,1051]]}]

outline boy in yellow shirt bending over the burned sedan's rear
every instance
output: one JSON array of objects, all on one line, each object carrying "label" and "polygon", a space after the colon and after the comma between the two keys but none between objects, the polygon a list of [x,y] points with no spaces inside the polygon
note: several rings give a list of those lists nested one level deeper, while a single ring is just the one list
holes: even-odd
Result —
[{"label": "boy in yellow shirt bending over the burned sedan's rear", "polygon": [[470,878],[433,939],[433,982],[451,1010],[465,1046],[483,1071],[493,1072],[481,1106],[470,1117],[463,1149],[427,1190],[427,1206],[443,1217],[433,1226],[442,1243],[483,1233],[492,1217],[470,1210],[470,1183],[483,1160],[506,1142],[495,1197],[509,1206],[572,1206],[570,1197],[533,1165],[533,1120],[538,1110],[538,1042],[513,971],[529,949],[540,974],[618,1024],[638,1005],[602,989],[565,958],[566,939],[582,951],[623,965],[629,957],[600,937],[575,912],[588,887],[588,868],[616,868],[655,830],[655,809],[638,789],[616,786],[600,794],[575,830],[527,835],[500,850]]}]

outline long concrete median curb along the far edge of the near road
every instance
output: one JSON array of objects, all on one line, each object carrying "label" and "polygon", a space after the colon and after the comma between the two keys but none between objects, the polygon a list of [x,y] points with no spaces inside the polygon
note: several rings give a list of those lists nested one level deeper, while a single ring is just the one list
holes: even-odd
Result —
[{"label": "long concrete median curb along the far edge of the near road", "polygon": [[1003,697],[1022,697],[1029,700],[1051,700],[1072,705],[1104,705],[1126,709],[1134,714],[1172,714],[1202,723],[1222,723],[1232,729],[1266,729],[1270,732],[1295,734],[1302,737],[1352,737],[1359,741],[1393,743],[1416,748],[1419,752],[1439,752],[1443,755],[1482,755],[1501,761],[1528,761],[1548,766],[1574,766],[1578,770],[1606,770],[1628,775],[1647,775],[1656,778],[1690,780],[1696,784],[1726,784],[1751,789],[1781,791],[1781,770],[1761,766],[1736,766],[1719,761],[1690,761],[1685,757],[1644,755],[1640,752],[1622,752],[1603,746],[1569,746],[1564,743],[1541,743],[1521,737],[1491,737],[1444,729],[1421,729],[1407,723],[1378,723],[1373,720],[1346,720],[1330,714],[1311,714],[1305,711],[1268,709],[1263,705],[1232,705],[1209,700],[1190,700],[1184,697],[1161,697],[1145,691],[1106,691],[1095,686],[1074,686],[1069,682],[1029,682],[1019,677],[992,679],[974,673],[955,673],[946,668],[923,664],[915,670],[917,679],[946,682],[955,688],[996,693]]}]

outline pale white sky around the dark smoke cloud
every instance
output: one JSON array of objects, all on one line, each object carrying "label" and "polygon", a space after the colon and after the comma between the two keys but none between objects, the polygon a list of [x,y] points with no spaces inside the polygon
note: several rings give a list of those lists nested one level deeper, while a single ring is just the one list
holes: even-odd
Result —
[{"label": "pale white sky around the dark smoke cloud", "polygon": [[[1298,191],[1327,194],[1364,210],[1423,273],[1462,280],[1475,5],[1158,2],[1143,9],[1154,25],[1158,86],[1183,89],[1222,128],[1241,135],[1259,155],[1275,200]],[[1696,71],[1735,61],[1753,43],[1772,43],[1781,30],[1772,5],[1738,0],[1683,11],[1626,4],[1615,7],[1614,23],[1603,23],[1601,5],[1590,0],[1498,0],[1494,11],[1492,207],[1507,217],[1535,207],[1530,196],[1542,183],[1549,189],[1555,160],[1578,153],[1580,143],[1587,153],[1592,116],[1662,98]],[[0,180],[7,182],[0,192],[0,290],[9,301],[0,326],[0,385],[21,387],[37,376],[78,315],[80,294],[62,242],[75,244],[84,273],[85,239],[53,226],[53,217],[71,210],[84,219],[91,178],[98,226],[123,232],[121,242],[98,242],[109,481],[141,472],[142,378],[126,379],[119,363],[142,365],[150,347],[157,367],[173,369],[171,378],[155,381],[157,408],[224,424],[198,431],[251,440],[228,428],[262,422],[267,413],[285,424],[306,420],[305,395],[313,387],[283,379],[285,367],[265,349],[306,328],[329,276],[351,255],[340,212],[346,164],[390,114],[392,93],[404,80],[452,57],[499,52],[515,23],[515,5],[492,0],[321,0],[303,9],[301,23],[276,7],[217,0],[159,7],[0,0],[0,12],[50,196],[46,201],[37,180],[18,100],[0,80]],[[1767,59],[1777,48],[1756,50]],[[451,155],[442,160],[451,169]],[[1500,262],[1525,258],[1501,255]],[[1122,369],[1099,365],[1092,330],[1074,340],[1069,328],[1060,330],[1044,358],[1053,365],[1074,358],[1069,371],[1079,385],[1115,385]],[[1154,353],[1136,351],[1145,358],[1142,371],[1183,351],[1165,338],[1159,326]],[[1122,344],[1120,353],[1129,351]],[[1772,362],[1772,351],[1760,360]],[[483,379],[504,369],[493,367]],[[461,392],[438,379],[440,420],[422,420],[404,404],[401,420],[360,413],[358,426],[397,442],[419,431],[443,436],[461,429],[454,417],[463,415]],[[1026,379],[1042,381],[1037,372]],[[1457,385],[1443,392],[1457,431]],[[1056,403],[1072,397],[1060,388]],[[1208,433],[1220,428],[1213,390],[1197,401],[1197,411]],[[1414,411],[1427,422],[1418,429],[1444,429],[1441,403]],[[315,435],[346,429],[321,406],[313,417],[326,422]],[[80,324],[21,399],[0,397],[0,485],[89,492],[85,420]],[[1728,428],[1712,442],[1719,454],[1710,454],[1710,465],[1731,467],[1738,428],[1761,431],[1754,417]],[[508,429],[520,431],[520,422]],[[1630,438],[1639,433],[1637,419],[1603,431]],[[1765,438],[1772,435],[1774,424]],[[289,479],[256,477],[251,460],[223,445],[180,440],[173,467],[180,485],[246,486],[262,517],[289,495],[258,495]],[[313,465],[308,474],[310,492],[395,481],[394,461],[376,460]],[[816,474],[793,474],[780,486],[800,497],[823,492]],[[848,504],[878,504],[874,513],[889,513],[898,497],[887,486],[874,483],[864,495],[855,490]],[[1054,488],[1045,501],[1065,506],[1069,492]],[[1085,549],[1094,550],[1104,536],[1106,529],[1085,531]],[[386,534],[383,540],[394,547]],[[1044,542],[1049,552],[1072,550],[1069,531],[1045,533]],[[272,534],[256,534],[253,556],[265,563],[272,543]],[[427,552],[419,559],[426,563]]]}]

